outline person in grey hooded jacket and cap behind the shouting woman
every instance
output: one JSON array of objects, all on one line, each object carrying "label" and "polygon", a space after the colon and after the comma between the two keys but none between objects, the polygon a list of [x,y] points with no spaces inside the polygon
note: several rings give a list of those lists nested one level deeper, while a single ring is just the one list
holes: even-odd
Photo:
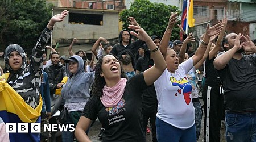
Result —
[{"label": "person in grey hooded jacket and cap behind the shouting woman", "polygon": [[[65,99],[64,107],[68,110],[67,122],[76,124],[90,97],[90,86],[94,81],[94,72],[84,72],[84,61],[78,55],[73,55],[65,60],[68,81],[63,85],[61,95]],[[63,142],[73,141],[74,132],[62,132]]]}]

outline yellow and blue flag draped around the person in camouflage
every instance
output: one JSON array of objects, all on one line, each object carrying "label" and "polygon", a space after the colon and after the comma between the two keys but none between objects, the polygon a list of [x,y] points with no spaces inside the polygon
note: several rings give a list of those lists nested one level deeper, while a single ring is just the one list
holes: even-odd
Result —
[{"label": "yellow and blue flag draped around the person in camouflage", "polygon": [[40,133],[31,133],[28,124],[28,133],[18,133],[18,123],[40,123],[42,97],[35,109],[27,105],[24,99],[8,83],[9,73],[0,77],[0,117],[5,123],[16,123],[16,133],[9,133],[10,141],[40,141]]}]

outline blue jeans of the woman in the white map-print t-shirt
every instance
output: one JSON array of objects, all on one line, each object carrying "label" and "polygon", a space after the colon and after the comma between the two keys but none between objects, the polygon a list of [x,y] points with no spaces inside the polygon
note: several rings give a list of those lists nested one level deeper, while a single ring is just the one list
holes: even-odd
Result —
[{"label": "blue jeans of the woman in the white map-print t-shirt", "polygon": [[156,137],[159,142],[196,142],[195,124],[185,130],[176,128],[156,117]]}]

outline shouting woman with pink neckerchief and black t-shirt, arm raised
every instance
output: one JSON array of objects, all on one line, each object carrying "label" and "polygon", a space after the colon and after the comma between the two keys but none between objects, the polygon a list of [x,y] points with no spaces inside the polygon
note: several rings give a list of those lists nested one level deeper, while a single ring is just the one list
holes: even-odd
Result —
[{"label": "shouting woman with pink neckerchief and black t-shirt, arm raised", "polygon": [[103,141],[146,141],[142,124],[142,91],[166,69],[163,56],[150,36],[138,26],[130,25],[132,35],[145,41],[155,65],[127,80],[115,55],[106,55],[97,62],[92,95],[77,123],[75,136],[90,141],[85,131],[99,118],[105,131]]}]

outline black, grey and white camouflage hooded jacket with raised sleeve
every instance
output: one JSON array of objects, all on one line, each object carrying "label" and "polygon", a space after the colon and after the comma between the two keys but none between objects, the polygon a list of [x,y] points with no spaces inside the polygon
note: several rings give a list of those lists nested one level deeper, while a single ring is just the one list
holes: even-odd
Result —
[{"label": "black, grey and white camouflage hooded jacket with raised sleeve", "polygon": [[[7,83],[13,89],[19,93],[24,101],[32,108],[36,108],[39,104],[39,93],[41,85],[41,73],[43,66],[42,55],[46,43],[51,37],[52,30],[47,27],[43,30],[39,37],[35,47],[32,49],[30,64],[26,67],[25,52],[17,44],[11,44],[5,49],[5,66],[10,72],[10,77],[7,79]],[[11,69],[9,64],[9,55],[11,52],[17,51],[22,56],[22,66],[18,71]]]}]

